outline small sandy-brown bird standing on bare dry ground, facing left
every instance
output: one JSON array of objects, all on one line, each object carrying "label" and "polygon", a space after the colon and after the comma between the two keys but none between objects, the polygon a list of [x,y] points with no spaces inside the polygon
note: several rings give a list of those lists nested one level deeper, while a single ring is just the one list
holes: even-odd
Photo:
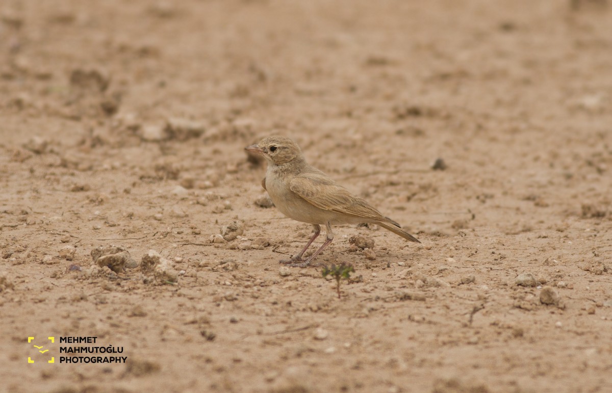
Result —
[{"label": "small sandy-brown bird standing on bare dry ground, facing left", "polygon": [[[280,263],[305,268],[334,239],[332,225],[375,223],[411,242],[420,243],[397,222],[385,217],[364,199],[336,184],[327,174],[306,162],[297,143],[288,137],[267,137],[245,148],[266,159],[266,177],[261,185],[280,212],[299,222],[312,224],[315,233],[304,249]],[[307,259],[302,256],[321,233],[327,230],[326,241]]]}]

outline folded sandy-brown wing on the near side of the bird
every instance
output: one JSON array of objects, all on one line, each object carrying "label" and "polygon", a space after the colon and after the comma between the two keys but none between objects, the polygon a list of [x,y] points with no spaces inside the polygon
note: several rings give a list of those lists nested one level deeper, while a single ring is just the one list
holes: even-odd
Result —
[{"label": "folded sandy-brown wing on the near side of the bird", "polygon": [[332,179],[323,173],[299,174],[289,182],[289,189],[319,209],[354,215],[364,219],[389,220],[362,198],[335,184]]}]

